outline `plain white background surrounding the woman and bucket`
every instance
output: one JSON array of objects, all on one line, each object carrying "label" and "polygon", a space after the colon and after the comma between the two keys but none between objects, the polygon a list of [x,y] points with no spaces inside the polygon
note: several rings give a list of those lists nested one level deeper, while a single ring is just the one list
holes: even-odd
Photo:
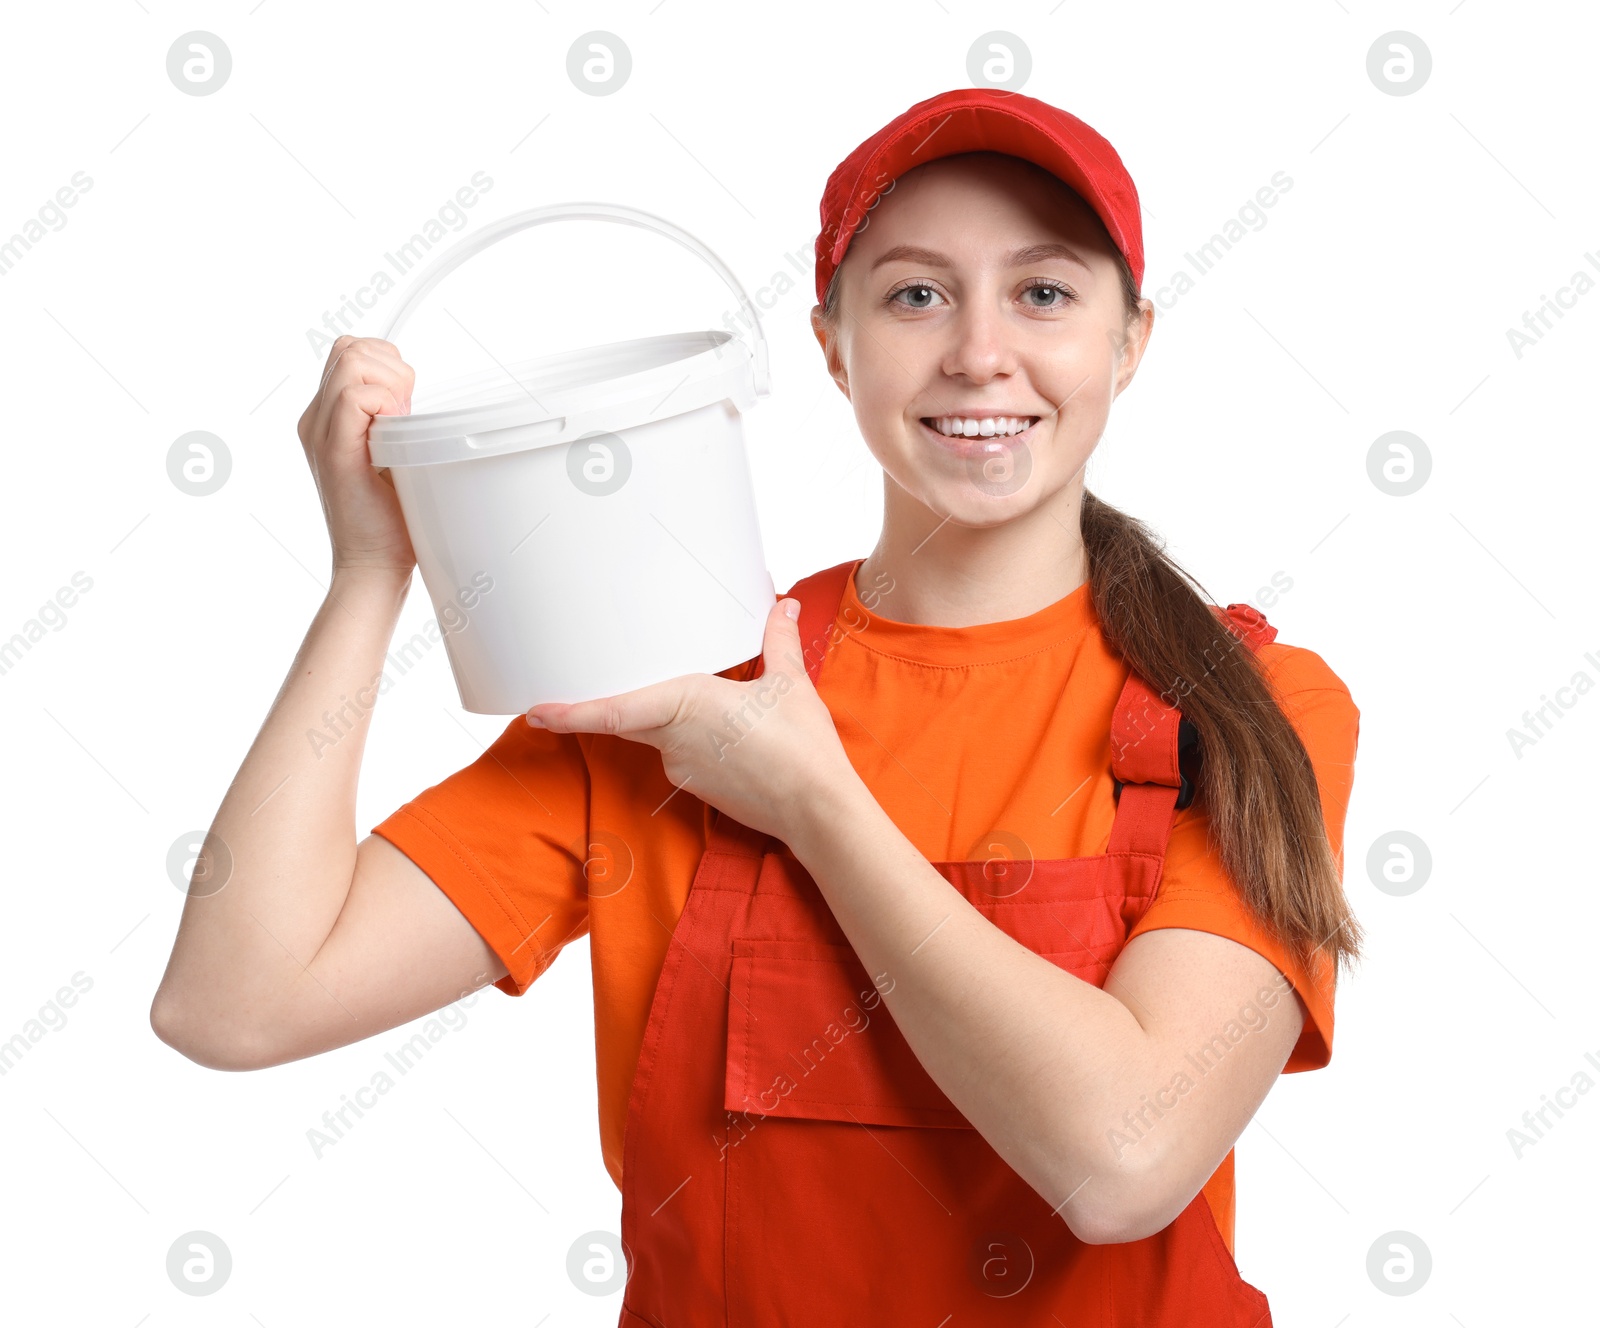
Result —
[{"label": "plain white background surrounding the woman and bucket", "polygon": [[[1138,181],[1146,294],[1274,173],[1293,179],[1162,312],[1090,475],[1214,600],[1259,603],[1286,574],[1269,608],[1280,638],[1317,650],[1362,710],[1346,888],[1368,958],[1341,984],[1331,1066],[1280,1080],[1238,1142],[1242,1272],[1282,1328],[1592,1322],[1579,1256],[1597,1227],[1600,1093],[1520,1158],[1507,1141],[1586,1051],[1600,1059],[1584,848],[1600,696],[1568,693],[1520,757],[1507,738],[1574,674],[1600,680],[1600,294],[1522,357],[1507,341],[1574,272],[1600,278],[1584,261],[1600,261],[1592,11],[107,0],[8,5],[5,27],[0,240],[75,171],[93,189],[0,277],[0,638],[74,573],[93,589],[0,675],[0,1038],[26,1040],[74,973],[93,986],[0,1078],[0,1314],[616,1322],[619,1296],[566,1275],[571,1243],[619,1213],[597,1142],[587,941],[522,1000],[480,994],[320,1160],[307,1130],[413,1029],[221,1074],[147,1024],[182,904],[168,851],[210,824],[326,584],[294,437],[323,362],[307,330],[475,171],[494,187],[467,230],[624,202],[699,235],[752,290],[798,251],[806,274],[765,315],[774,394],[746,421],[768,566],[784,589],[862,555],[878,470],[806,320],[818,200],[856,142],[966,85],[968,48],[1002,29],[1032,54],[1022,91],[1101,130]],[[210,96],[166,75],[194,29],[232,53]],[[632,53],[610,96],[566,75],[594,29]],[[1408,96],[1366,72],[1392,30],[1434,59]],[[507,283],[507,326],[558,346],[720,325],[709,274],[666,242],[611,238],[616,261],[571,266],[563,302]],[[397,299],[358,331],[381,334]],[[232,456],[208,498],[166,475],[173,440],[197,429]],[[1390,430],[1432,458],[1406,498],[1368,475]],[[402,634],[430,616],[418,579]],[[378,709],[358,834],[504,723],[461,710],[434,651]],[[1406,896],[1368,872],[1395,830],[1432,853]],[[214,1296],[166,1275],[189,1230],[232,1251]],[[1392,1230],[1432,1251],[1405,1296],[1366,1272]]]}]

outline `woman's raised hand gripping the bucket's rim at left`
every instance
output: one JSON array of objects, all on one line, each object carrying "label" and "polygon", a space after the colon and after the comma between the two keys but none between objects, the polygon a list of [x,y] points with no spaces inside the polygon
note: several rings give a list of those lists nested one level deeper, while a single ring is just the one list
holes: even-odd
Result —
[{"label": "woman's raised hand gripping the bucket's rim at left", "polygon": [[379,414],[410,414],[413,368],[394,342],[341,336],[328,352],[322,386],[299,419],[322,514],[333,541],[333,570],[410,573],[416,552],[389,472],[373,467],[366,430]]}]

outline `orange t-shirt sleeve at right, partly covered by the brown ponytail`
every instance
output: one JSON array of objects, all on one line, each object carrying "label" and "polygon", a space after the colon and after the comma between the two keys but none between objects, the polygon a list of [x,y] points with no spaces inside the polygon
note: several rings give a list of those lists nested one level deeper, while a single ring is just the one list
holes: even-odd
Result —
[{"label": "orange t-shirt sleeve at right, partly covered by the brown ponytail", "polygon": [[[1269,643],[1261,648],[1261,662],[1283,714],[1310,757],[1328,843],[1342,870],[1344,814],[1355,776],[1360,710],[1344,682],[1315,651]],[[1333,995],[1338,976],[1333,962],[1318,950],[1314,970],[1307,971],[1258,922],[1224,870],[1198,806],[1179,813],[1173,821],[1162,883],[1128,939],[1160,926],[1186,926],[1227,936],[1270,960],[1294,984],[1309,1016],[1283,1074],[1317,1070],[1328,1064],[1333,1056]]]}]

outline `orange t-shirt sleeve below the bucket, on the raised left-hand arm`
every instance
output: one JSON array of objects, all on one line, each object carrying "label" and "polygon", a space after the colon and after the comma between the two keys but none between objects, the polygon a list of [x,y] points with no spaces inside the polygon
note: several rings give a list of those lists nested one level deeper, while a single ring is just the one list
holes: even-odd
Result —
[{"label": "orange t-shirt sleeve below the bucket, on the raised left-hand arm", "polygon": [[472,765],[373,826],[450,896],[522,995],[589,931],[589,766],[578,736],[517,715]]}]

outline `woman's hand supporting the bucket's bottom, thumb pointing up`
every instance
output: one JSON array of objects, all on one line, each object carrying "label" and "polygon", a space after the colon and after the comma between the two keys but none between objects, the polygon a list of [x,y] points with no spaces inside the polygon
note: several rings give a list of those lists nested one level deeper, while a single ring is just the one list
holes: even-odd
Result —
[{"label": "woman's hand supporting the bucket's bottom, thumb pointing up", "polygon": [[790,843],[818,794],[856,773],[806,674],[800,627],[786,606],[800,611],[798,600],[784,598],[766,614],[758,678],[685,674],[597,701],[549,701],[528,710],[528,723],[648,742],[661,750],[674,784]]}]

